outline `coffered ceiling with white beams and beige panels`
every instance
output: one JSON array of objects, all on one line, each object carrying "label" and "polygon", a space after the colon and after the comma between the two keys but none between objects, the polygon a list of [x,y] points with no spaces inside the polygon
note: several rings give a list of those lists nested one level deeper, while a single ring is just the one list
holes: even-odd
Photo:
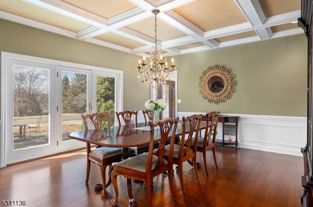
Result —
[{"label": "coffered ceiling with white beams and beige panels", "polygon": [[303,34],[301,0],[0,0],[0,19],[147,55],[175,56]]}]

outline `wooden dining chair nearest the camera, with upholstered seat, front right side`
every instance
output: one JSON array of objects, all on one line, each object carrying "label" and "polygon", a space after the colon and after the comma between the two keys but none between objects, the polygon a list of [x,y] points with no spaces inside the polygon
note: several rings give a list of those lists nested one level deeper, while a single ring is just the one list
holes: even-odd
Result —
[{"label": "wooden dining chair nearest the camera, with upholstered seat, front right side", "polygon": [[[178,125],[179,117],[177,118],[164,118],[156,122],[149,121],[150,125],[150,144],[149,151],[136,155],[134,157],[123,160],[112,166],[111,179],[114,187],[115,196],[111,200],[111,205],[118,204],[118,185],[117,175],[122,175],[127,178],[127,192],[130,201],[130,206],[137,206],[133,198],[132,192],[132,179],[141,180],[145,182],[148,206],[152,207],[152,180],[159,174],[168,171],[168,181],[172,195],[172,201],[175,202],[175,194],[173,187],[173,148],[175,141],[175,133]],[[159,129],[155,129],[159,126]],[[154,153],[155,136],[159,139],[158,149]],[[165,152],[165,142],[171,137],[169,147],[169,160],[163,158]]]}]

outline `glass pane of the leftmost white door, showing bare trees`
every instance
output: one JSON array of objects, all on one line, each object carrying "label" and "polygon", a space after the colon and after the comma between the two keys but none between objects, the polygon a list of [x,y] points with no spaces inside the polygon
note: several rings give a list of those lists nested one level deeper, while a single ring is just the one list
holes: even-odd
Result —
[{"label": "glass pane of the leftmost white door, showing bare trees", "polygon": [[49,144],[49,70],[13,67],[13,150]]}]

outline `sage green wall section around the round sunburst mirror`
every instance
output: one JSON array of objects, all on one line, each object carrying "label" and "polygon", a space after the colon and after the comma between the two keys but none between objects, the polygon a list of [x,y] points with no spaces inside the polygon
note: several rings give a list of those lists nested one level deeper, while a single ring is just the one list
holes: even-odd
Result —
[{"label": "sage green wall section around the round sunburst mirror", "polygon": [[[176,57],[181,112],[306,116],[307,39],[275,38]],[[208,67],[226,65],[236,75],[236,92],[225,103],[208,103],[199,78]]]}]

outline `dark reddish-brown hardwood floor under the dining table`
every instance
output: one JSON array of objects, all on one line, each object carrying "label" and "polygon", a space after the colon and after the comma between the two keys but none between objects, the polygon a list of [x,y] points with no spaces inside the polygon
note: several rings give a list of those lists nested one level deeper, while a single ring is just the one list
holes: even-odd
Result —
[{"label": "dark reddish-brown hardwood floor under the dining table", "polygon": [[[34,160],[0,169],[0,200],[25,201],[26,207],[109,207],[108,198],[94,190],[101,183],[100,169],[92,164],[86,178],[86,150]],[[154,207],[300,207],[303,159],[298,156],[225,147],[216,149],[219,169],[207,153],[209,177],[184,164],[186,194],[182,195],[175,172],[176,203],[172,203],[166,174],[154,178]],[[198,161],[203,163],[201,153]],[[119,207],[128,206],[126,179],[118,176]],[[133,183],[138,207],[147,207],[146,192]],[[13,206],[13,205],[11,205]],[[15,205],[17,206],[17,205]]]}]

